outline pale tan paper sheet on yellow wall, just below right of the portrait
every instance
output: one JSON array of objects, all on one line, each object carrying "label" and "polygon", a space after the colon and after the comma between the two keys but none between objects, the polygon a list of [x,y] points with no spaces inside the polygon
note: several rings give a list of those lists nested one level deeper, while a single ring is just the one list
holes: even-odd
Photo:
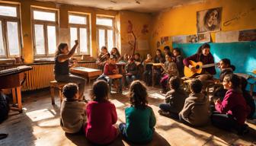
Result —
[{"label": "pale tan paper sheet on yellow wall, just below right of the portrait", "polygon": [[216,33],[216,43],[238,42],[239,31],[227,31]]}]

